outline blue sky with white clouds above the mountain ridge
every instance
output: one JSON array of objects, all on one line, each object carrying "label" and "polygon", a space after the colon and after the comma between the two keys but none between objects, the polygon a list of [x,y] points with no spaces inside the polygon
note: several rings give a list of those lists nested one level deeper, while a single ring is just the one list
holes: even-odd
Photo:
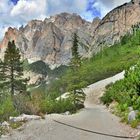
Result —
[{"label": "blue sky with white clouds above the mountain ridge", "polygon": [[77,13],[92,21],[130,0],[0,0],[0,40],[8,27],[20,27],[32,19],[43,20],[61,12]]}]

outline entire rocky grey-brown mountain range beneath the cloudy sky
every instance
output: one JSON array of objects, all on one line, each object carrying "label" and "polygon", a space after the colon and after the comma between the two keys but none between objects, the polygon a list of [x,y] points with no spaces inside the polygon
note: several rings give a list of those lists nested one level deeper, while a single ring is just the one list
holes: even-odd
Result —
[{"label": "entire rocky grey-brown mountain range beneath the cloudy sky", "polygon": [[118,42],[140,22],[140,0],[132,0],[111,12],[102,20],[88,22],[77,14],[61,13],[44,21],[32,20],[19,29],[9,27],[0,43],[1,55],[9,40],[15,40],[22,56],[29,62],[44,61],[52,69],[66,65],[71,58],[72,34],[77,32],[80,54],[90,56],[105,46]]}]

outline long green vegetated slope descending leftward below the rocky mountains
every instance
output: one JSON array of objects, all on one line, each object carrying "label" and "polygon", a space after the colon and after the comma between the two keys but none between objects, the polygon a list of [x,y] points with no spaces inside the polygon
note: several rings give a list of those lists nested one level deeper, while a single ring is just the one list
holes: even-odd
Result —
[{"label": "long green vegetated slope descending leftward below the rocky mountains", "polygon": [[60,79],[48,86],[46,93],[66,92],[71,86],[73,77],[77,77],[76,85],[86,87],[101,79],[134,66],[140,58],[140,32],[135,31],[122,37],[121,42],[94,55],[91,59],[82,61],[76,73],[68,69]]}]

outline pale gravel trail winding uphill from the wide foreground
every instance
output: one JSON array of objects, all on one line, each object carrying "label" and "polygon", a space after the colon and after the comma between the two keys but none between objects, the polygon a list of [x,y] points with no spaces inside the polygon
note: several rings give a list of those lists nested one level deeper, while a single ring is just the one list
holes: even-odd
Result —
[{"label": "pale gravel trail winding uphill from the wide foreground", "polygon": [[10,136],[2,138],[2,140],[124,140],[123,138],[114,138],[81,131],[56,123],[53,119],[106,134],[135,135],[137,130],[121,124],[119,118],[112,115],[99,102],[99,97],[103,94],[105,86],[122,79],[123,75],[124,72],[99,81],[84,89],[87,95],[85,108],[79,113],[68,116],[58,114],[46,115],[45,120],[28,122],[22,129],[11,132]]}]

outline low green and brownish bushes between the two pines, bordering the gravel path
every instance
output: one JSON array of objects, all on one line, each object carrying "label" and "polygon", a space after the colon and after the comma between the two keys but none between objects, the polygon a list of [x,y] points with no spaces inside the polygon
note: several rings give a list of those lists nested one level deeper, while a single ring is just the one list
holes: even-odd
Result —
[{"label": "low green and brownish bushes between the two pines, bordering the gravel path", "polygon": [[51,98],[51,95],[46,96],[41,93],[34,93],[31,98],[25,95],[15,96],[14,104],[18,112],[29,115],[64,113],[66,111],[74,113],[77,109],[82,108],[82,106],[75,106],[71,99],[57,101]]}]

